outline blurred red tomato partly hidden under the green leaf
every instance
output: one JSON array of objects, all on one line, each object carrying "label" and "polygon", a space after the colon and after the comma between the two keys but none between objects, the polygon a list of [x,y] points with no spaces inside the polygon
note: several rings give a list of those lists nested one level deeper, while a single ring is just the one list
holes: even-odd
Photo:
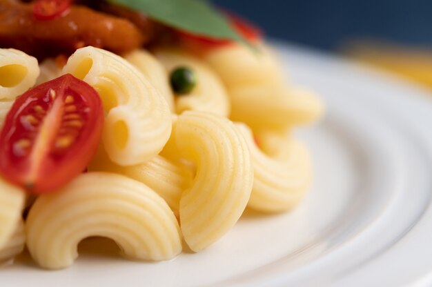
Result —
[{"label": "blurred red tomato partly hidden under the green leaf", "polygon": [[[254,43],[262,38],[261,30],[252,23],[249,23],[231,12],[226,12],[225,14],[226,17],[228,17],[231,26],[247,41]],[[219,48],[233,43],[233,41],[228,39],[214,39],[184,31],[179,31],[179,38],[186,48],[192,50]]]}]

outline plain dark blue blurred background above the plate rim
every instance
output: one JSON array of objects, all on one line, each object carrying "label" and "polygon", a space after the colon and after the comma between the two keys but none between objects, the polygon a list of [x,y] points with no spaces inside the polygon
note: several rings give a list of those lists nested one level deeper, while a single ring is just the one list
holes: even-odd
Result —
[{"label": "plain dark blue blurred background above the plate rim", "polygon": [[432,46],[432,0],[214,0],[270,37],[335,49],[349,39]]}]

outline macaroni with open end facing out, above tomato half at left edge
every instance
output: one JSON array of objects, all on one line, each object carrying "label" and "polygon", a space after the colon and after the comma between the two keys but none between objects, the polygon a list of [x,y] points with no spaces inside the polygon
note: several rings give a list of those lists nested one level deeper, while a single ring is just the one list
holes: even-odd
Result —
[{"label": "macaroni with open end facing out, above tomato half at left edge", "polygon": [[37,59],[15,49],[0,49],[0,100],[14,100],[36,83]]}]

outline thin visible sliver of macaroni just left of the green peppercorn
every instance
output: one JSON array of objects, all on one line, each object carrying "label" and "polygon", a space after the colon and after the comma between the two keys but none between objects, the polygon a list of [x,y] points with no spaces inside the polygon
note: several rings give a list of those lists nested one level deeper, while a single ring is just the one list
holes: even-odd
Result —
[{"label": "thin visible sliver of macaroni just left of the green peppercorn", "polygon": [[150,83],[166,99],[171,112],[174,112],[174,95],[169,86],[168,75],[164,66],[157,61],[155,56],[151,55],[147,50],[139,49],[129,52],[123,57],[147,77]]}]

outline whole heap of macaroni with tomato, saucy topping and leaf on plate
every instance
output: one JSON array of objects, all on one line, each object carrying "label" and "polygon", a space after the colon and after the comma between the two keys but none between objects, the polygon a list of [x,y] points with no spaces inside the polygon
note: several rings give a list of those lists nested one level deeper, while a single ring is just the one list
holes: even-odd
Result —
[{"label": "whole heap of macaroni with tomato, saucy topping and leaf on plate", "polygon": [[66,268],[87,237],[172,259],[304,197],[293,129],[322,103],[251,23],[189,0],[0,0],[0,23],[0,261]]}]

